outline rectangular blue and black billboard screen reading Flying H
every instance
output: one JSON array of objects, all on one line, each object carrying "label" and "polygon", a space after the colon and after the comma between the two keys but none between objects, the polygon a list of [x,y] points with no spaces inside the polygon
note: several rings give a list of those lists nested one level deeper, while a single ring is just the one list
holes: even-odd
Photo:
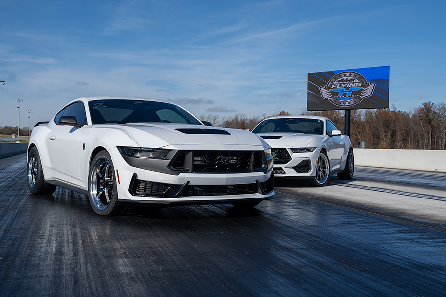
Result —
[{"label": "rectangular blue and black billboard screen reading Flying H", "polygon": [[374,108],[389,108],[389,66],[308,73],[308,111]]}]

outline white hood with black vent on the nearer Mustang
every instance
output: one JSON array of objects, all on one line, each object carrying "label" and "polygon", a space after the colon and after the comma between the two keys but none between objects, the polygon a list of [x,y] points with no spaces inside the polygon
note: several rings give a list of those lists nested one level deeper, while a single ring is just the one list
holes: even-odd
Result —
[{"label": "white hood with black vent on the nearer Mustang", "polygon": [[169,123],[105,124],[96,125],[96,127],[120,130],[131,137],[140,147],[144,148],[232,148],[238,150],[263,150],[269,148],[268,144],[254,133],[240,129]]}]

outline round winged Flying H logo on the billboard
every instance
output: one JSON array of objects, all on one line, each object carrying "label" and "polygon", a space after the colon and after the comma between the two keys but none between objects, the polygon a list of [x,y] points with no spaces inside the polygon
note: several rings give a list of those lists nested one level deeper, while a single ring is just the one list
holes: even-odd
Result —
[{"label": "round winged Flying H logo on the billboard", "polygon": [[353,106],[373,94],[375,83],[353,71],[344,71],[334,75],[327,85],[319,87],[321,97],[336,106]]}]

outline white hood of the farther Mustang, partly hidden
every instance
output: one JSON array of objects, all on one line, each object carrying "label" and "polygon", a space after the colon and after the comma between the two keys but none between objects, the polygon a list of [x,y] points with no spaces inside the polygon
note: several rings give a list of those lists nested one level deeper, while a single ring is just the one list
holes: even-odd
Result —
[{"label": "white hood of the farther Mustang, partly hidden", "polygon": [[258,133],[272,148],[305,148],[311,140],[324,138],[324,135],[301,133]]}]

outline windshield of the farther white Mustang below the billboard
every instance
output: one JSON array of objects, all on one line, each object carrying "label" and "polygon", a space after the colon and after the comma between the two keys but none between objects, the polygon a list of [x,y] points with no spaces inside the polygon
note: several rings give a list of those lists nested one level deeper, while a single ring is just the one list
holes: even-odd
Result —
[{"label": "windshield of the farther white Mustang below the billboard", "polygon": [[324,121],[317,119],[303,119],[303,118],[282,118],[270,119],[261,122],[253,133],[304,133],[304,134],[320,134],[324,128]]}]

